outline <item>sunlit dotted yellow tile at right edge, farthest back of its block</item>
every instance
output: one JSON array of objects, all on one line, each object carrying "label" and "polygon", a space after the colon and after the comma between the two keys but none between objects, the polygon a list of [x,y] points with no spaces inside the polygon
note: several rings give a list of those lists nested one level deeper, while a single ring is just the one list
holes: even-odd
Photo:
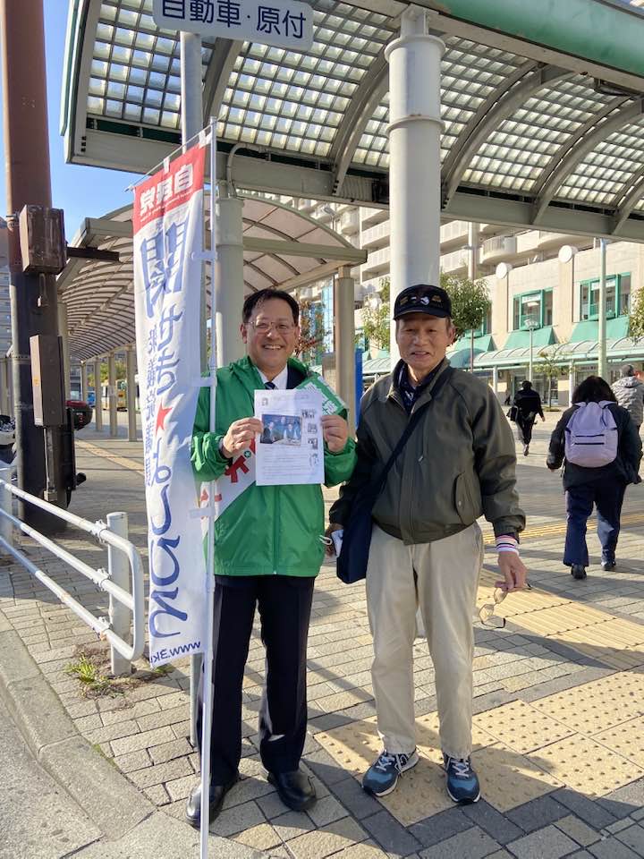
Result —
[{"label": "sunlit dotted yellow tile at right edge, farthest back of its block", "polygon": [[609,675],[532,706],[581,734],[597,734],[644,712],[644,676],[631,671]]}]

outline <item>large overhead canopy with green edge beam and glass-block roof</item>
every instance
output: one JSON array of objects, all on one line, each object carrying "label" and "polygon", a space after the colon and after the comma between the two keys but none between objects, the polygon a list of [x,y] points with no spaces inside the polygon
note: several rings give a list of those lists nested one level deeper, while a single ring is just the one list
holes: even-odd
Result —
[{"label": "large overhead canopy with green edge beam and glass-block roof", "polygon": [[[178,34],[157,30],[151,0],[69,2],[68,160],[145,173],[180,143]],[[442,214],[644,241],[644,135],[634,122],[644,93],[640,0],[569,0],[547,16],[524,0],[415,2],[445,41]],[[204,120],[217,117],[218,177],[233,147],[249,147],[234,159],[238,188],[386,207],[384,52],[408,3],[311,4],[306,53],[204,43]],[[564,26],[572,11],[575,28]],[[604,154],[612,134],[624,153],[613,193],[614,158]],[[587,162],[593,181],[580,193],[572,175]]]}]

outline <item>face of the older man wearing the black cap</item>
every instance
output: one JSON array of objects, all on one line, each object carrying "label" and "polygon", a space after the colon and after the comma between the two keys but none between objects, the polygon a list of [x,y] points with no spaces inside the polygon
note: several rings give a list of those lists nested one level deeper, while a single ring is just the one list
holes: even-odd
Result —
[{"label": "face of the older man wearing the black cap", "polygon": [[421,382],[445,358],[453,343],[454,327],[449,319],[428,313],[406,313],[396,323],[396,343],[411,377]]}]

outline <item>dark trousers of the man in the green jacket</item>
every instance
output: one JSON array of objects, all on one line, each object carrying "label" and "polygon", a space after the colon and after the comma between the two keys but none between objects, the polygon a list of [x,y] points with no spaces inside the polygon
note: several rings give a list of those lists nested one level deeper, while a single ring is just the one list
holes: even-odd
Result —
[{"label": "dark trousers of the man in the green jacket", "polygon": [[[306,658],[313,577],[244,576],[215,586],[210,781],[229,782],[242,756],[242,682],[255,606],[266,649],[259,753],[269,772],[297,770],[306,738]],[[201,748],[203,674],[199,684]]]}]

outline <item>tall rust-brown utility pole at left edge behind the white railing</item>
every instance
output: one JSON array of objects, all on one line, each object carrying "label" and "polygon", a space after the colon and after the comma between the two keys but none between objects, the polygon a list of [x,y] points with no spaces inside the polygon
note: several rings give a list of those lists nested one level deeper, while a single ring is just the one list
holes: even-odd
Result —
[{"label": "tall rust-brown utility pole at left edge behind the white railing", "polygon": [[[44,432],[35,425],[31,385],[30,336],[58,334],[55,280],[23,273],[17,221],[26,205],[51,207],[42,0],[0,0],[0,26],[18,483],[38,497],[47,488],[47,497],[65,507],[62,428]],[[21,519],[38,531],[60,530],[59,520],[37,506],[20,502],[18,509]]]}]

